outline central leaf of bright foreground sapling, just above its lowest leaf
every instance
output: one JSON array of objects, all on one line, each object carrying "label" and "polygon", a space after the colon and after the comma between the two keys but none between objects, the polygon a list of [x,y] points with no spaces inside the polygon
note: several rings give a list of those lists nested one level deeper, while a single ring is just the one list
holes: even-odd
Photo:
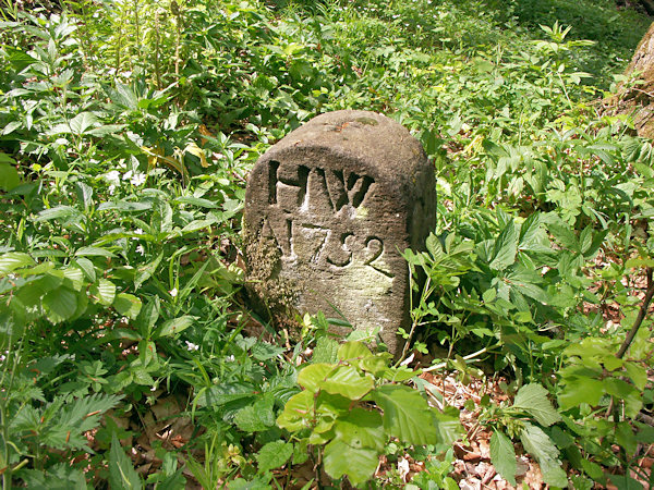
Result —
[{"label": "central leaf of bright foreground sapling, just above its lowest leaf", "polygon": [[368,448],[380,453],[386,444],[382,415],[378,412],[354,408],[339,418],[334,431],[336,437],[354,449]]}]

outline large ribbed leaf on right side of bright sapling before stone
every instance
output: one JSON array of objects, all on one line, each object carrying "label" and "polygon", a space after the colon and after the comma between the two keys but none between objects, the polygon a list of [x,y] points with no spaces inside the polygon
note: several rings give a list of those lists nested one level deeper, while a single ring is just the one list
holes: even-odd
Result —
[{"label": "large ribbed leaf on right side of bright sapling before stone", "polygon": [[383,384],[371,397],[384,411],[384,428],[390,436],[416,445],[438,442],[429,406],[417,391],[402,384]]}]

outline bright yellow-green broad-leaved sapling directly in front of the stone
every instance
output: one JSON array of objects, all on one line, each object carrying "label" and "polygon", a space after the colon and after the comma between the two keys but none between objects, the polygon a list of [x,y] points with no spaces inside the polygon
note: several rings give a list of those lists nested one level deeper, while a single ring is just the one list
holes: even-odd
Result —
[{"label": "bright yellow-green broad-leaved sapling directly in front of the stone", "polygon": [[[293,463],[311,457],[331,478],[347,476],[359,487],[374,475],[391,439],[413,445],[456,440],[458,417],[431,407],[417,391],[401,384],[416,372],[389,368],[389,358],[362,342],[348,342],[338,348],[337,363],[311,364],[300,371],[303,391],[277,418],[294,441]],[[287,451],[288,460],[292,450]]]}]

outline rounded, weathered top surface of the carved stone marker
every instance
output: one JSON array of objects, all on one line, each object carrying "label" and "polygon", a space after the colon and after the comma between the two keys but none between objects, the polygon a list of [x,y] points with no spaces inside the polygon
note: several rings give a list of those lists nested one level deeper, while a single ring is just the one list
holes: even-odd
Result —
[{"label": "rounded, weathered top surface of the carved stone marker", "polygon": [[413,185],[428,167],[422,145],[405,127],[372,111],[341,110],[317,115],[274,145],[261,160],[302,154],[356,161],[375,179],[395,182],[396,188]]}]

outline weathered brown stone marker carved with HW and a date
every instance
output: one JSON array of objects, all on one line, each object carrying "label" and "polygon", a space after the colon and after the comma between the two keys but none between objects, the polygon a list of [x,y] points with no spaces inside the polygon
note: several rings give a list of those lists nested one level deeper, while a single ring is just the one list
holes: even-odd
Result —
[{"label": "weathered brown stone marker carved with HW and a date", "polygon": [[250,174],[250,291],[276,322],[318,310],[338,318],[338,310],[358,330],[379,328],[397,353],[397,330],[410,322],[401,253],[424,247],[435,189],[422,146],[395,121],[351,110],[314,118]]}]

